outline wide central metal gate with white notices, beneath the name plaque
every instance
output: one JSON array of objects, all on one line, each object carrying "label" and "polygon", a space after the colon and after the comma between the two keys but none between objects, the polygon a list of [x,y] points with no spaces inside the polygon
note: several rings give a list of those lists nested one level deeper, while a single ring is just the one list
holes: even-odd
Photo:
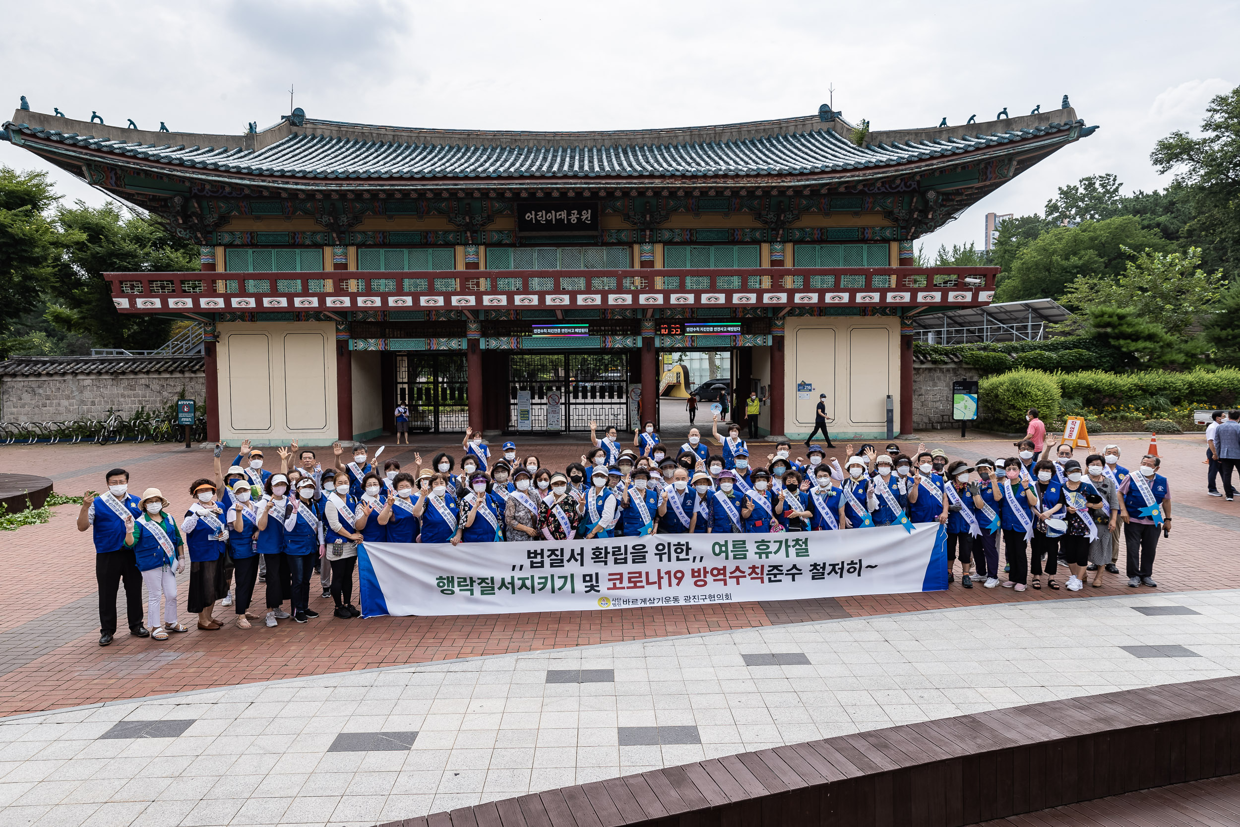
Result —
[{"label": "wide central metal gate with white notices, beneath the name plaque", "polygon": [[[508,357],[508,430],[518,430],[520,394],[529,393],[532,431],[547,431],[547,394],[559,394],[560,428],[583,431],[629,424],[629,353],[539,353]],[[553,429],[554,430],[554,429]]]}]

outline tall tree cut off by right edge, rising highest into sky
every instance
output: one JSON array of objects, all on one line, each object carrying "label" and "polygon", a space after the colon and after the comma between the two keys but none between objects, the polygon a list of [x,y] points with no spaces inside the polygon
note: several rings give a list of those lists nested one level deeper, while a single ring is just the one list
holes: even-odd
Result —
[{"label": "tall tree cut off by right edge, rising highest into sky", "polygon": [[1188,229],[1216,247],[1228,274],[1240,269],[1240,87],[1216,95],[1205,108],[1202,136],[1173,131],[1154,145],[1149,160],[1159,174],[1193,195]]}]

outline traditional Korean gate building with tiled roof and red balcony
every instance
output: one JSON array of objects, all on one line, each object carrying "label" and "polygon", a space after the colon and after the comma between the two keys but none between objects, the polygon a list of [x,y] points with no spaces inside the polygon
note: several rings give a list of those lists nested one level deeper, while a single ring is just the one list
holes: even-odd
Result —
[{"label": "traditional Korean gate building with tiled roof and red balcony", "polygon": [[295,109],[244,135],[19,110],[2,136],[201,245],[201,273],[107,278],[119,312],[203,326],[212,439],[326,444],[393,430],[398,399],[413,430],[631,429],[686,350],[733,352],[769,434],[804,438],[823,392],[833,433],[884,434],[888,396],[908,433],[906,317],[986,305],[997,273],[914,268],[914,241],[1094,129],[1065,97],[868,134],[822,107],[591,133]]}]

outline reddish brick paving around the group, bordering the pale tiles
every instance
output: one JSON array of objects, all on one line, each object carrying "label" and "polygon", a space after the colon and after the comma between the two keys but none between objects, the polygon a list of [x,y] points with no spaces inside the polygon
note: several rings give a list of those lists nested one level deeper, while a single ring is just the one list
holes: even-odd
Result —
[{"label": "reddish brick paving around the group, bordering the pale tiles", "polygon": [[[950,431],[931,431],[921,438],[930,446],[942,446],[954,458],[976,459],[1012,450],[1011,440],[990,436],[961,440]],[[900,441],[915,448],[916,440]],[[1123,464],[1135,466],[1148,440],[1116,438],[1114,441],[1123,449]],[[531,444],[543,462],[553,467],[578,460],[584,446],[584,440],[544,440],[536,448]],[[428,464],[430,455],[441,449],[460,454],[459,443],[423,441],[414,448]],[[1176,516],[1176,531],[1159,547],[1154,570],[1161,588],[1240,586],[1240,574],[1216,564],[1236,547],[1240,505],[1205,496],[1202,436],[1164,436],[1159,439],[1159,449],[1163,467],[1172,480]],[[768,450],[769,446],[761,446],[761,454]],[[1078,454],[1084,458],[1080,451]],[[404,446],[399,451],[389,448],[384,458],[389,455],[403,462],[413,459],[412,450]],[[62,493],[81,495],[87,489],[103,489],[104,472],[118,465],[131,471],[131,491],[160,487],[175,503],[174,508],[181,510],[188,502],[188,484],[210,475],[211,453],[148,444],[0,446],[0,471],[51,476]],[[162,643],[122,634],[112,646],[103,648],[95,643],[98,614],[89,534],[76,531],[77,506],[53,511],[47,524],[2,536],[10,598],[0,604],[0,676],[4,676],[0,715],[475,655],[987,603],[1069,596],[1084,600],[1130,591],[1126,578],[1107,575],[1105,588],[1086,588],[1075,594],[1043,589],[1017,595],[1008,589],[965,590],[954,584],[941,593],[838,600],[366,621],[332,617],[325,609],[330,600],[312,591],[311,605],[322,616],[308,625],[286,622],[278,629],[258,625],[252,630],[226,626],[216,632],[193,629]],[[182,582],[186,580],[187,575],[182,575]],[[181,605],[185,605],[185,585]],[[124,617],[123,605],[120,615]],[[231,609],[222,608],[217,609],[217,615],[229,620],[233,616]]]}]

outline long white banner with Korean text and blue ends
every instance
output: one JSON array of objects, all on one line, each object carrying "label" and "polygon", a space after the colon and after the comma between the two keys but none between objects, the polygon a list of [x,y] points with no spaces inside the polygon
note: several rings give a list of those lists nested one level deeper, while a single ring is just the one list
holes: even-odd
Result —
[{"label": "long white banner with Korean text and blue ends", "polygon": [[358,543],[362,614],[484,615],[801,600],[947,588],[945,529],[521,543]]}]

